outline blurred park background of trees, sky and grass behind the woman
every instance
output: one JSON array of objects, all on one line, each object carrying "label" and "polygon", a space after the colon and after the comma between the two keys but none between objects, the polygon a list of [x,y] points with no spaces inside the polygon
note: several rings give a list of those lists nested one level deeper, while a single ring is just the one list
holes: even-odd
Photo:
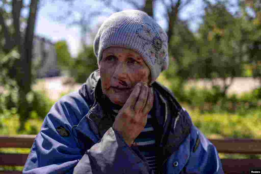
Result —
[{"label": "blurred park background of trees, sky and grass behind the woman", "polygon": [[98,69],[99,26],[126,9],[167,32],[170,64],[157,81],[195,126],[208,138],[261,138],[260,0],[1,0],[0,134],[37,134],[51,106]]}]

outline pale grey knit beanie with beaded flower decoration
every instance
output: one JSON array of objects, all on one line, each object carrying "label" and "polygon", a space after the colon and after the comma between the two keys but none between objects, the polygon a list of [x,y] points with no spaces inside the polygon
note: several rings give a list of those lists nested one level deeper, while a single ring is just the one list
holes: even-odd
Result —
[{"label": "pale grey knit beanie with beaded flower decoration", "polygon": [[118,46],[139,53],[151,73],[151,85],[168,68],[168,37],[156,21],[140,10],[112,14],[99,28],[94,39],[94,54],[99,62],[102,52]]}]

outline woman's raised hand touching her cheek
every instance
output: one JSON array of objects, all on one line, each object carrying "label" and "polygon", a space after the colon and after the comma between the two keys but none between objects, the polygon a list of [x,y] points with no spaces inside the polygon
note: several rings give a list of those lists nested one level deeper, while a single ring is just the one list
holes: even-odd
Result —
[{"label": "woman's raised hand touching her cheek", "polygon": [[152,87],[149,88],[146,83],[137,83],[112,125],[129,146],[144,129],[147,123],[147,114],[152,106]]}]

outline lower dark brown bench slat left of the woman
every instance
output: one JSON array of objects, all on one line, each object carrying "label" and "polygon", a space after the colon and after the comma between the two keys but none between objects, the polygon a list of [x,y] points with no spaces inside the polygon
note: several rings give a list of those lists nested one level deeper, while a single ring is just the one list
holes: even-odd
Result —
[{"label": "lower dark brown bench slat left of the woman", "polygon": [[0,165],[23,166],[28,154],[0,153]]}]

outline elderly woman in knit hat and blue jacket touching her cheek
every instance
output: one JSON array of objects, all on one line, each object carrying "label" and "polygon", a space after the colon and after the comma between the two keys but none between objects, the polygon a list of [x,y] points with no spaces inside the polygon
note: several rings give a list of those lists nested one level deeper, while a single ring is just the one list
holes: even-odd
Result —
[{"label": "elderly woman in knit hat and blue jacket touching her cheek", "polygon": [[155,81],[167,43],[146,13],[111,15],[94,40],[99,69],[51,108],[23,173],[223,173],[216,148]]}]

